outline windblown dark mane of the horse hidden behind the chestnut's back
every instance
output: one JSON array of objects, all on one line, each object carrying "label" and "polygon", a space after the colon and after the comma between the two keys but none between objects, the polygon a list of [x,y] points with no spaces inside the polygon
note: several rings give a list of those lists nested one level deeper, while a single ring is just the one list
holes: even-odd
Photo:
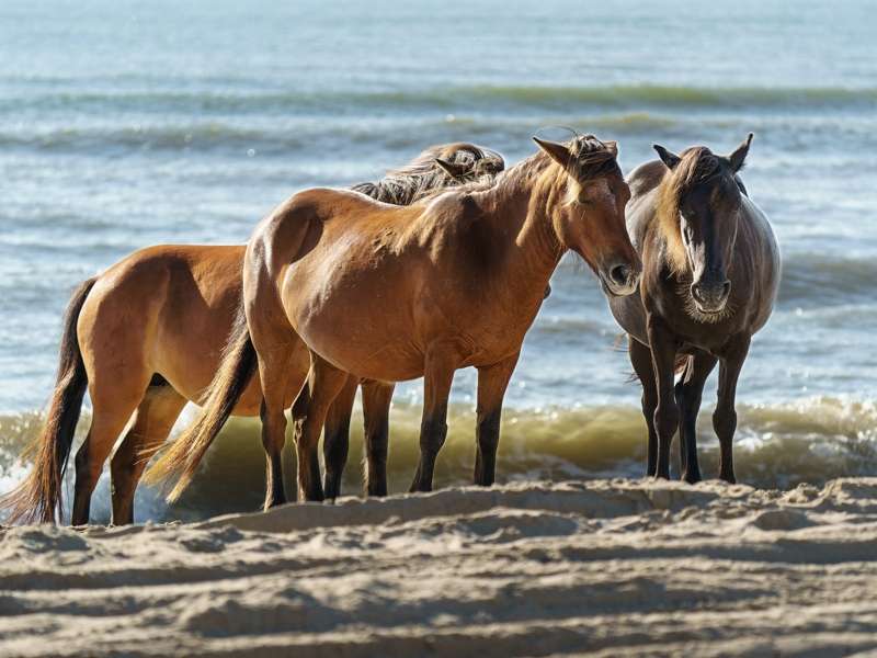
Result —
[{"label": "windblown dark mane of the horse hidden behind the chestnut's back", "polygon": [[[464,182],[460,183],[438,167],[435,163],[436,158],[453,164],[463,164]],[[492,180],[504,168],[505,161],[497,151],[460,141],[431,146],[408,164],[388,171],[379,181],[360,183],[353,185],[352,190],[385,203],[410,205],[447,188],[465,185],[465,181]]]}]

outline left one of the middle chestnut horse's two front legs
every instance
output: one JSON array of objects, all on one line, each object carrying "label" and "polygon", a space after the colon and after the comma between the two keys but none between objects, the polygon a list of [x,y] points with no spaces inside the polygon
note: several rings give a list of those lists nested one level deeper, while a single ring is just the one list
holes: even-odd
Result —
[{"label": "left one of the middle chestnut horse's two front legs", "polygon": [[420,423],[420,463],[411,491],[432,491],[435,457],[447,435],[447,397],[456,370],[456,355],[432,349],[423,372],[423,418]]}]

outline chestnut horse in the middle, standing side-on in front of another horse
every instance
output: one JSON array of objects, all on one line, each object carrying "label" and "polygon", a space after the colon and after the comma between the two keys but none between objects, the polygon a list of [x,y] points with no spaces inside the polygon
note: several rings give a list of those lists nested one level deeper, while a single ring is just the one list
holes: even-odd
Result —
[{"label": "chestnut horse in the middle, standing side-on in front of another horse", "polygon": [[[487,185],[433,194],[405,208],[307,190],[260,224],[244,259],[249,336],[242,340],[251,339],[258,354],[263,442],[274,446],[275,483],[282,483],[286,396],[301,386],[288,364],[303,350],[311,367],[293,408],[299,499],[323,496],[316,446],[348,373],[378,382],[424,377],[412,489],[425,491],[447,430],[454,372],[477,367],[475,481],[493,483],[502,399],[561,256],[579,253],[614,295],[633,293],[639,279],[615,144],[593,136],[566,145],[536,141],[539,152]],[[224,365],[225,379],[216,382],[214,395],[226,405],[239,387],[235,371]],[[201,426],[217,429],[210,418]],[[195,445],[203,439],[190,436]],[[155,468],[182,473],[179,490],[196,465],[181,450]]]}]

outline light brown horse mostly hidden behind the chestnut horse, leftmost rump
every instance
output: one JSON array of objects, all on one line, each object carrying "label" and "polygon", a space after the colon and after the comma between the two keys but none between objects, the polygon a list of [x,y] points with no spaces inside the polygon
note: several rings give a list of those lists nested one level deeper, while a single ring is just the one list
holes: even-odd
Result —
[{"label": "light brown horse mostly hidden behind the chestnut horse, leftmost rump", "polygon": [[[408,166],[354,190],[396,204],[428,192],[493,175],[502,158],[471,144],[423,151]],[[111,462],[113,522],[130,523],[134,491],[146,457],[167,439],[186,401],[200,402],[219,366],[223,347],[241,308],[244,246],[159,246],[137,251],[84,282],[70,302],[61,342],[58,381],[36,462],[27,479],[0,507],[13,521],[54,520],[73,430],[88,388],[93,415],[76,456],[72,523],[88,523],[91,494],[118,435],[134,422]],[[254,361],[253,367],[254,367]],[[304,377],[307,354],[293,364]],[[292,402],[298,389],[291,390]],[[340,486],[356,383],[345,388],[327,419],[327,488]],[[239,392],[234,413],[254,416],[262,393],[252,378]],[[369,492],[386,491],[386,433],[380,418],[392,388],[364,388],[369,454]],[[381,455],[380,443],[384,449]],[[373,455],[374,453],[374,455]]]}]

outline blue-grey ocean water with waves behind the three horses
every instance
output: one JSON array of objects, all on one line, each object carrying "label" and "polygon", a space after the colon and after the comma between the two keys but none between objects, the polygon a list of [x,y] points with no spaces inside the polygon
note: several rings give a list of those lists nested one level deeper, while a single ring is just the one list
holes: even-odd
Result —
[{"label": "blue-grey ocean water with waves behind the three horses", "polygon": [[[864,0],[4,0],[0,489],[26,466],[16,456],[82,279],[147,245],[243,242],[293,192],[375,179],[431,144],[472,140],[514,162],[551,126],[617,139],[625,171],[654,141],[727,152],[755,133],[743,180],[784,279],[741,378],[738,477],[877,473],[875,29]],[[645,422],[619,330],[584,266],[565,261],[553,286],[506,398],[499,477],[638,476]],[[438,485],[470,477],[474,392],[474,372],[458,373]],[[707,475],[714,397],[715,377]],[[395,490],[413,473],[420,400],[420,383],[399,387]],[[137,518],[252,509],[262,486],[258,424],[235,421],[178,507],[144,489]],[[109,514],[105,478],[94,509]]]}]

